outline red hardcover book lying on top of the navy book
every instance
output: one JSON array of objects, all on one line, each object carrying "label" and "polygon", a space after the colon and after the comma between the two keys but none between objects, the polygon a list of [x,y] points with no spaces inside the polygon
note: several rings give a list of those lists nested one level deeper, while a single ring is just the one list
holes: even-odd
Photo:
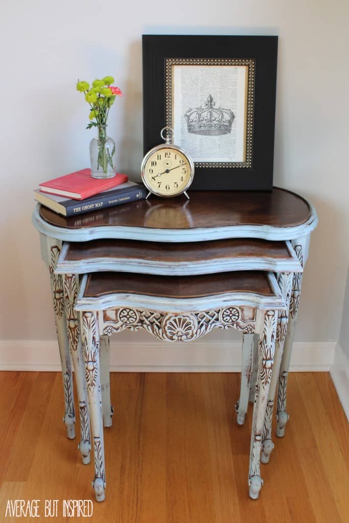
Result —
[{"label": "red hardcover book lying on top of the navy book", "polygon": [[42,192],[51,195],[66,196],[73,200],[85,200],[99,192],[112,189],[128,180],[126,174],[116,174],[113,178],[92,178],[91,169],[77,170],[53,180],[44,181],[39,185]]}]

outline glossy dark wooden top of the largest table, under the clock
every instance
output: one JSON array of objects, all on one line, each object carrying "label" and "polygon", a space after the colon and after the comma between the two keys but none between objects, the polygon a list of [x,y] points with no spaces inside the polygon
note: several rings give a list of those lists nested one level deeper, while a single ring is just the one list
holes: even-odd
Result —
[{"label": "glossy dark wooden top of the largest table, under the clock", "polygon": [[285,189],[272,191],[191,191],[190,200],[151,196],[65,218],[41,206],[43,220],[65,229],[119,225],[153,229],[219,228],[230,225],[269,225],[287,228],[311,216],[308,202]]}]

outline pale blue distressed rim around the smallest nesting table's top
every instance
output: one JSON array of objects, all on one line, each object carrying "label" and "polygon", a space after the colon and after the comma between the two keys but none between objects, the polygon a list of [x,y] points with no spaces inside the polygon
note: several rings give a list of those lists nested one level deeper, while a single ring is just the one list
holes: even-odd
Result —
[{"label": "pale blue distressed rim around the smallest nesting table's top", "polygon": [[218,309],[229,305],[232,301],[236,305],[258,307],[259,309],[270,309],[271,307],[284,308],[284,301],[276,278],[272,272],[267,274],[269,284],[275,296],[263,296],[249,292],[225,292],[222,294],[204,296],[200,298],[166,298],[148,296],[146,294],[129,294],[118,292],[116,294],[105,294],[99,297],[85,297],[84,292],[87,283],[87,275],[82,278],[78,299],[75,305],[77,311],[101,311],[116,306],[127,305],[131,308],[151,309],[154,311],[170,310],[175,313]]}]

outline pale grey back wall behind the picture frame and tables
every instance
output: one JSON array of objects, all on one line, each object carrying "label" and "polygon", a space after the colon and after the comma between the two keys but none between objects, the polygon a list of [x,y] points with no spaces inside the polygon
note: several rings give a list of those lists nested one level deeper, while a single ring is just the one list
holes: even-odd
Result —
[{"label": "pale grey back wall behind the picture frame and tables", "polygon": [[125,97],[112,109],[109,132],[119,169],[137,177],[141,34],[228,33],[280,37],[275,185],[309,198],[320,219],[296,339],[337,340],[349,261],[348,15],[346,0],[177,0],[171,9],[160,0],[3,1],[0,338],[55,337],[48,274],[30,222],[32,189],[88,166],[93,131],[85,130],[87,106],[75,92],[77,78],[116,77]]}]

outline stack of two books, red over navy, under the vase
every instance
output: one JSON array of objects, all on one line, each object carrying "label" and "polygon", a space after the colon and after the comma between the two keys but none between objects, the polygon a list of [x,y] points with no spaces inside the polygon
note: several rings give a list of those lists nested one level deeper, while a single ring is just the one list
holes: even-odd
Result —
[{"label": "stack of two books, red over navy, under the vase", "polygon": [[91,169],[82,169],[43,182],[34,195],[45,207],[69,217],[142,200],[147,196],[147,189],[128,181],[126,174],[97,179],[91,177]]}]

